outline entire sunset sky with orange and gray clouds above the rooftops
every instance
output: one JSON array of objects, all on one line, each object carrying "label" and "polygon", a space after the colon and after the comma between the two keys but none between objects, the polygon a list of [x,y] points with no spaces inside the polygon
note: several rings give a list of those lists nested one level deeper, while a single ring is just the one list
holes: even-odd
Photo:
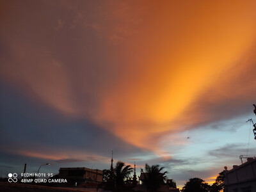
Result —
[{"label": "entire sunset sky with orange and gray clouds above the rooftops", "polygon": [[255,1],[1,1],[0,177],[256,154]]}]

